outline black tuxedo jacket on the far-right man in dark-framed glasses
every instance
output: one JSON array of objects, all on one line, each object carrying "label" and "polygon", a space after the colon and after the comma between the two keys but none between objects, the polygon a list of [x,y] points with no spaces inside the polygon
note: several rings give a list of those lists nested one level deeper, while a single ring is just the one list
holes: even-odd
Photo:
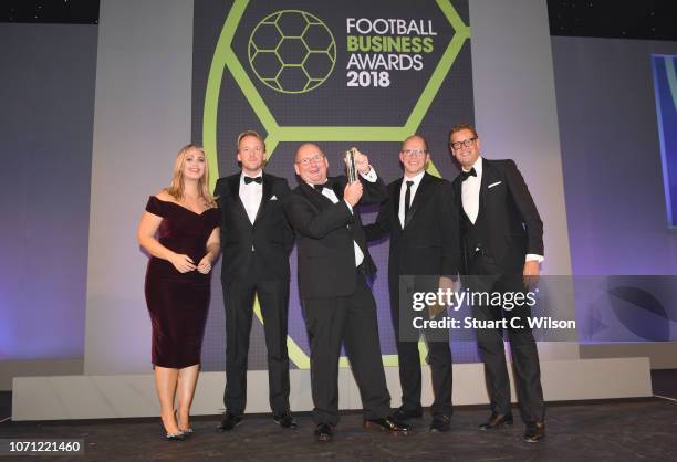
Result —
[{"label": "black tuxedo jacket on the far-right man in dark-framed glasses", "polygon": [[475,224],[461,204],[461,179],[459,175],[452,186],[460,211],[465,272],[479,254],[492,259],[503,273],[521,273],[528,253],[543,255],[543,222],[513,160],[482,158],[479,212]]}]

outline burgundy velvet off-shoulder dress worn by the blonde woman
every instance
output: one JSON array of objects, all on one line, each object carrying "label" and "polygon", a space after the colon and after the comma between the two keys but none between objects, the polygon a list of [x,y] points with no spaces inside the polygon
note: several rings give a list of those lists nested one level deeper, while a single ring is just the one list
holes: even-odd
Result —
[{"label": "burgundy velvet off-shoulder dress worn by the blonde woman", "polygon": [[[197,265],[207,254],[207,239],[219,225],[218,209],[198,214],[178,203],[148,199],[146,211],[163,218],[158,241]],[[153,364],[184,368],[200,363],[209,307],[211,272],[179,273],[166,260],[152,256],[146,271],[146,304],[153,324]]]}]

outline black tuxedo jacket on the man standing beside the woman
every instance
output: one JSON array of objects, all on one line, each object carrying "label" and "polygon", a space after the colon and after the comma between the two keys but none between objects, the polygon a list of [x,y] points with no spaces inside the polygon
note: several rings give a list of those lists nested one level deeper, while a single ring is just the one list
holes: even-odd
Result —
[{"label": "black tuxedo jacket on the man standing beside the woman", "polygon": [[291,193],[289,185],[284,178],[263,174],[263,195],[252,224],[240,200],[240,175],[219,178],[215,188],[221,210],[221,280],[244,277],[252,258],[259,259],[261,279],[289,280],[294,233],[282,204]]}]

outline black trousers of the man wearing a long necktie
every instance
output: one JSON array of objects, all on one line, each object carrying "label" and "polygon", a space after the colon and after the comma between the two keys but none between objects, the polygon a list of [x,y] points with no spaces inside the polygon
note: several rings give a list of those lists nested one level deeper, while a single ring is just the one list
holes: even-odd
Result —
[{"label": "black trousers of the man wearing a long necktie", "polygon": [[[413,321],[416,313],[412,309],[413,292],[437,292],[439,276],[402,277],[397,287],[390,287],[390,313],[395,328],[397,359],[399,363],[399,385],[402,387],[402,408],[406,411],[418,411],[421,408],[421,369],[418,338],[420,332],[415,329]],[[393,281],[392,284],[395,284]],[[400,305],[399,301],[405,301]],[[427,317],[427,312],[420,312]],[[444,316],[445,313],[440,313]],[[439,316],[438,316],[439,317]],[[435,399],[430,406],[433,416],[450,417],[452,359],[449,346],[449,332],[424,330],[427,340],[428,356]]]}]

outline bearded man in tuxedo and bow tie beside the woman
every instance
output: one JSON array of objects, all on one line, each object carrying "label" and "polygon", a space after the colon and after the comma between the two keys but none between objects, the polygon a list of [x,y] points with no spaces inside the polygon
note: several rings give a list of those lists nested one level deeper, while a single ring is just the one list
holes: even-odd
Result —
[{"label": "bearded man in tuxedo and bow tie beside the woman", "polygon": [[215,190],[221,211],[226,305],[226,412],[219,430],[233,430],[242,421],[254,295],[263,315],[273,419],[282,428],[293,429],[287,322],[294,234],[282,207],[291,191],[285,179],[263,172],[265,144],[258,133],[249,130],[238,137],[237,159],[242,170],[219,178]]}]

